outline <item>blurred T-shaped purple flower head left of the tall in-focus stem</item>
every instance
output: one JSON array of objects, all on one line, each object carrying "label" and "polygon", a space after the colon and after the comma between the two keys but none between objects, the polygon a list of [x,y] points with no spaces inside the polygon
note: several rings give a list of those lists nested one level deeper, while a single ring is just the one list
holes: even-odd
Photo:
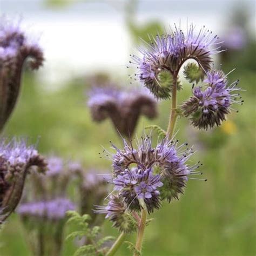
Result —
[{"label": "blurred T-shaped purple flower head left of the tall in-focus stem", "polygon": [[88,106],[93,120],[110,118],[123,136],[132,136],[141,115],[157,116],[157,102],[144,89],[124,90],[116,86],[95,87],[90,92]]}]

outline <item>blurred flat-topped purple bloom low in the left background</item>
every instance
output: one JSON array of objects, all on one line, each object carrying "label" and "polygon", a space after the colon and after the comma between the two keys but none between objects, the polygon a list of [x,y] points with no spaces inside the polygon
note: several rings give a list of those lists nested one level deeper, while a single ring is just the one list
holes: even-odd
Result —
[{"label": "blurred flat-topped purple bloom low in the left background", "polygon": [[75,205],[66,198],[24,203],[18,207],[18,213],[22,217],[35,217],[46,220],[63,219],[66,212],[71,210],[75,210]]}]

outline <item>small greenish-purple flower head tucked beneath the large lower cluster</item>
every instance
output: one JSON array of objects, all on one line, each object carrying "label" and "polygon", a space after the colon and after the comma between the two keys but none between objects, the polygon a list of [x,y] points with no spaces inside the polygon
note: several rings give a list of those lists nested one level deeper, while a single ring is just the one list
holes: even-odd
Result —
[{"label": "small greenish-purple flower head tucked beneath the large lower cluster", "polygon": [[125,210],[123,199],[112,195],[109,203],[106,206],[96,206],[95,212],[106,214],[105,218],[108,218],[113,223],[113,227],[118,228],[120,232],[130,233],[136,229],[136,223]]}]

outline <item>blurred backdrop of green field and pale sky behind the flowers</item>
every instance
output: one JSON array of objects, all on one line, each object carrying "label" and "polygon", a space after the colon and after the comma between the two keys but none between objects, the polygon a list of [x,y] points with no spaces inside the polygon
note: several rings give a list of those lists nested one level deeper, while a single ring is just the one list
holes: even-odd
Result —
[{"label": "blurred backdrop of green field and pale sky behind the flowers", "polygon": [[[254,1],[151,1],[151,0],[1,0],[1,15],[17,20],[31,31],[45,53],[44,67],[26,71],[22,93],[6,136],[39,137],[42,153],[78,159],[87,169],[109,169],[99,159],[109,140],[119,144],[110,120],[93,123],[86,106],[86,90],[96,75],[130,85],[129,55],[139,38],[168,31],[173,23],[207,26],[224,41],[226,52],[214,56],[215,65],[228,78],[240,79],[245,104],[238,106],[221,127],[198,132],[178,121],[177,137],[198,150],[195,160],[204,163],[207,183],[190,180],[180,201],[164,204],[147,227],[144,255],[249,256],[256,254],[255,170],[255,2]],[[17,18],[18,17],[18,18]],[[136,83],[134,83],[136,85]],[[190,95],[183,84],[180,101]],[[159,103],[159,117],[141,118],[146,125],[166,128],[170,102]],[[111,224],[104,233],[117,235]],[[130,240],[134,240],[131,237]],[[1,256],[30,255],[25,234],[13,214],[0,233]],[[118,255],[130,255],[123,245]],[[72,243],[64,255],[72,255]]]}]

